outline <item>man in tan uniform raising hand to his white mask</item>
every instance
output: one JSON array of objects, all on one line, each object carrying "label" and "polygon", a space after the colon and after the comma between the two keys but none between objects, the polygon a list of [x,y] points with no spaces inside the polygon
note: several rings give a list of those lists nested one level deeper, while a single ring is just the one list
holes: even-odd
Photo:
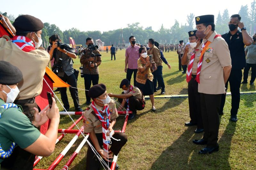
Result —
[{"label": "man in tan uniform raising hand to his white mask", "polygon": [[188,36],[189,44],[186,45],[184,55],[181,58],[182,65],[188,64],[186,79],[188,82],[188,106],[190,122],[186,122],[185,125],[197,125],[195,133],[201,133],[204,131],[204,126],[200,107],[200,93],[198,92],[198,83],[195,78],[203,40],[196,37],[196,30],[189,31]]}]

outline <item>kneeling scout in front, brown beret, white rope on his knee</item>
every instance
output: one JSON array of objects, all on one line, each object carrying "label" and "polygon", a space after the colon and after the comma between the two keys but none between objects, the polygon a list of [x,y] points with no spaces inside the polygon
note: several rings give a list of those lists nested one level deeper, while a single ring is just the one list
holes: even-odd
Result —
[{"label": "kneeling scout in front, brown beret, white rope on his knee", "polygon": [[[88,139],[96,151],[105,159],[106,161],[113,158],[114,155],[118,155],[121,148],[127,142],[127,136],[122,132],[114,132],[113,126],[116,123],[116,118],[118,113],[116,110],[115,101],[110,99],[107,95],[107,88],[104,84],[94,85],[90,88],[88,95],[92,98],[92,103],[84,111],[84,132],[90,133],[90,138]],[[109,133],[113,133],[112,137],[115,139],[120,139],[120,141],[111,140],[112,144],[110,148],[107,148],[106,143],[103,143],[105,138],[105,133],[109,136]],[[102,149],[102,145],[103,148]],[[86,157],[86,169],[100,169],[100,162],[98,158],[94,155],[91,147],[87,150]],[[119,166],[116,164],[116,169]]]}]

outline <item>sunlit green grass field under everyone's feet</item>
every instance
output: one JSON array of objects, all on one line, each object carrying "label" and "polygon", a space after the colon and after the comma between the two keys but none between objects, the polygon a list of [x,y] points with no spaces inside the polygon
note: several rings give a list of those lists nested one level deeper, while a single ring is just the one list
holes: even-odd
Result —
[{"label": "sunlit green grass field under everyone's feet", "polygon": [[[100,69],[100,83],[107,86],[111,93],[121,93],[119,84],[126,77],[124,72],[124,50],[118,50],[116,61],[110,61],[110,53],[103,52]],[[186,75],[178,71],[178,56],[176,52],[164,53],[171,64],[169,70],[164,64],[163,77],[166,94],[187,94],[188,85]],[[74,68],[80,67],[79,59],[74,60]],[[249,72],[249,75],[251,71]],[[250,76],[249,76],[250,80]],[[133,78],[132,82],[133,84]],[[79,75],[78,88],[84,89],[84,79]],[[229,89],[228,89],[229,91]],[[255,86],[241,85],[242,92],[255,91]],[[85,106],[85,93],[78,90],[80,105]],[[160,92],[156,92],[158,95]],[[60,98],[60,94],[57,94]],[[68,92],[70,111],[74,104]],[[192,143],[193,139],[200,139],[203,134],[194,134],[196,127],[185,127],[184,122],[190,120],[187,98],[155,99],[156,112],[150,111],[150,100],[146,107],[138,111],[135,118],[128,121],[126,134],[128,142],[119,153],[117,163],[124,169],[256,169],[256,95],[241,95],[238,110],[238,122],[230,122],[231,96],[227,96],[224,115],[220,116],[219,145],[220,151],[211,155],[199,155],[198,151],[204,146]],[[60,104],[58,104],[60,108]],[[62,110],[62,108],[60,108]],[[77,119],[79,116],[72,116]],[[120,130],[124,123],[124,116],[117,118],[115,130]],[[66,129],[72,124],[68,116],[61,116],[59,129]],[[79,127],[82,123],[79,123]],[[75,129],[75,128],[74,128]],[[58,144],[54,153],[43,158],[35,168],[47,169],[60,152],[67,146],[75,134],[67,134]],[[61,169],[77,146],[83,140],[79,137],[70,151],[66,154],[56,169]],[[85,169],[87,144],[77,155],[70,168]]]}]

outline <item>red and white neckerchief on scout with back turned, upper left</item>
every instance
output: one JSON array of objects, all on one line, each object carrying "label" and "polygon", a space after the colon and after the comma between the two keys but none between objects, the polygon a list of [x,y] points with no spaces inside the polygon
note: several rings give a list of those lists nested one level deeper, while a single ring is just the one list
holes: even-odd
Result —
[{"label": "red and white neckerchief on scout with back turned, upper left", "polygon": [[30,52],[32,50],[35,50],[35,44],[33,41],[31,41],[28,37],[25,36],[14,36],[12,38],[12,42],[20,48],[22,51]]}]

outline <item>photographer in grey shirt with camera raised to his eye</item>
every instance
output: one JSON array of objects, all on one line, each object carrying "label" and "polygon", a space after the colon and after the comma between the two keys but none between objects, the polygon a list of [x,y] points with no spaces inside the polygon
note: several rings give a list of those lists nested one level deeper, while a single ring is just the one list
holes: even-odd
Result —
[{"label": "photographer in grey shirt with camera raised to his eye", "polygon": [[[75,110],[77,112],[82,112],[79,105],[78,91],[76,89],[77,78],[75,75],[75,70],[73,68],[73,60],[72,58],[76,58],[76,54],[73,48],[70,48],[68,44],[62,44],[59,35],[54,34],[50,37],[52,41],[52,48],[49,51],[51,56],[51,60],[55,58],[55,62],[52,68],[52,71],[57,74],[61,80],[68,83],[72,87],[69,87],[69,92],[74,102]],[[69,103],[67,96],[67,88],[60,88],[60,96],[61,100],[64,104],[64,107],[67,111],[69,111]]]}]

